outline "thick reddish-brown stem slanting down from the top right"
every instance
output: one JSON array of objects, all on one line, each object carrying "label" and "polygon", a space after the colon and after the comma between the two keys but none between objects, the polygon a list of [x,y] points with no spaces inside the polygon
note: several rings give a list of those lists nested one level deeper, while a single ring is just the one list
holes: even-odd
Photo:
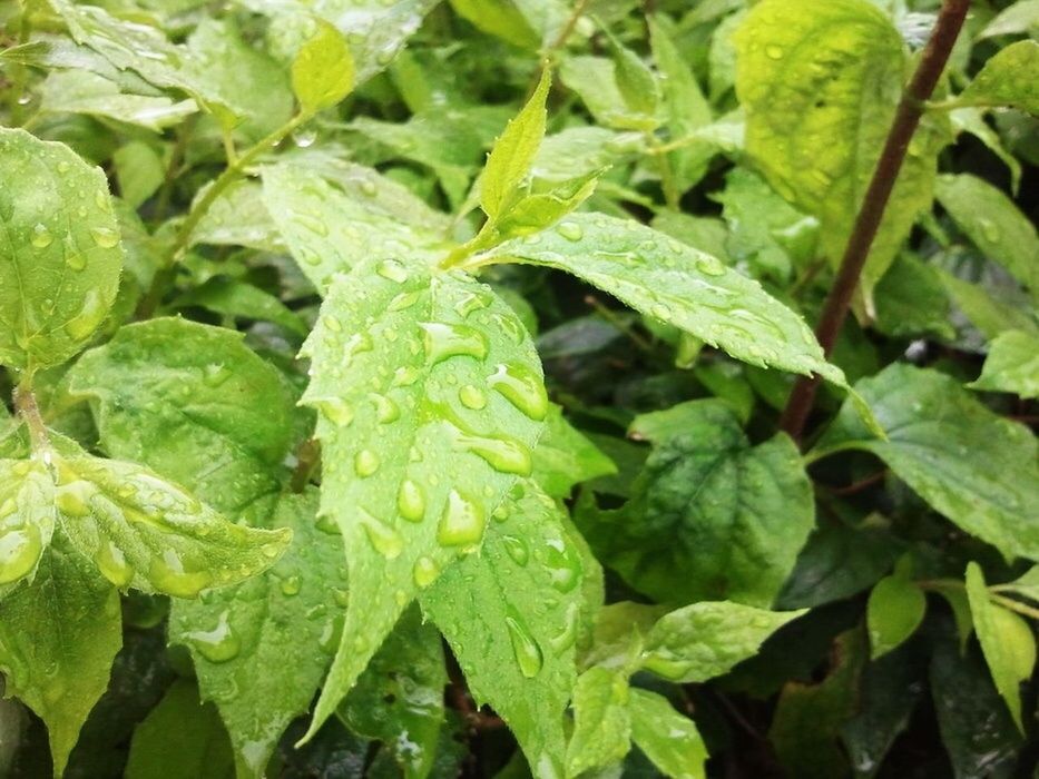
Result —
[{"label": "thick reddish-brown stem slanting down from the top right", "polygon": [[[847,246],[841,259],[841,269],[830,289],[830,295],[823,306],[823,314],[815,328],[815,335],[826,356],[833,351],[837,333],[847,317],[852,296],[859,286],[862,268],[870,256],[870,247],[880,228],[884,209],[894,189],[902,161],[905,159],[909,142],[920,124],[925,102],[945,69],[945,62],[963,27],[963,19],[969,8],[970,0],[944,0],[938,21],[934,23],[934,30],[920,58],[920,65],[899,101],[894,121],[888,132],[888,140],[876,161],[876,169],[873,171],[870,187],[862,199],[855,225],[847,239]],[[815,402],[819,381],[817,376],[801,377],[791,393],[780,425],[794,440],[800,438],[804,431],[805,422]]]}]

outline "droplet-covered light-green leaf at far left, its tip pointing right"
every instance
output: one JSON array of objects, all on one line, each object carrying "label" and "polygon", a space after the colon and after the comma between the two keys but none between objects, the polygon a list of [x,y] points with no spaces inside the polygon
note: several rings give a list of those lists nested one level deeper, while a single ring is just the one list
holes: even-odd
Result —
[{"label": "droplet-covered light-green leaf at far left, its tip pointing right", "polygon": [[53,465],[62,532],[122,590],[194,598],[265,570],[292,538],[228,522],[134,463],[73,451],[55,454]]}]

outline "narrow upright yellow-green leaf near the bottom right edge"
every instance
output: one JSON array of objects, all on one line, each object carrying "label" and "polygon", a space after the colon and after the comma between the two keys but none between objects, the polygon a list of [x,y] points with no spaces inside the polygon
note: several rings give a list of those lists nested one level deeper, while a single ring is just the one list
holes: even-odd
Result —
[{"label": "narrow upright yellow-green leaf near the bottom right edge", "polygon": [[978,563],[967,566],[967,596],[992,681],[1023,733],[1020,684],[1031,678],[1036,668],[1036,637],[1025,620],[989,600],[989,589]]}]

